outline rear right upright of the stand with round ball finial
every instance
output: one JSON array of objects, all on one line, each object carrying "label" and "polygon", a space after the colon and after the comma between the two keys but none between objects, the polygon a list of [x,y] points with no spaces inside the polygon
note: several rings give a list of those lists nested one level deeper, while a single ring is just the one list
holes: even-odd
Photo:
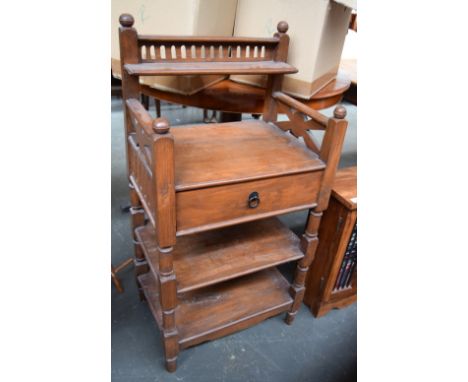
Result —
[{"label": "rear right upright of the stand with round ball finial", "polygon": [[[274,37],[279,38],[278,46],[274,53],[274,61],[286,62],[288,58],[289,48],[289,36],[286,32],[289,29],[286,21],[280,21],[277,25],[278,33],[274,34]],[[278,115],[278,109],[275,100],[273,99],[273,93],[281,90],[283,84],[283,74],[269,75],[267,80],[267,86],[265,89],[265,103],[263,106],[263,120],[266,122],[276,121]]]}]

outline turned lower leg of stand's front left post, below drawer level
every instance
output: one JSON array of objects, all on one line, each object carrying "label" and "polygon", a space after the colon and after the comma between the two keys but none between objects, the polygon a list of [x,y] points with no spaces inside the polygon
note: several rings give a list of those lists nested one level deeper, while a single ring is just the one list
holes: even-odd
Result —
[{"label": "turned lower leg of stand's front left post, below drawer level", "polygon": [[172,265],[172,247],[159,248],[159,297],[163,318],[163,342],[166,369],[173,372],[179,354],[179,333],[175,323],[177,307],[176,277]]}]

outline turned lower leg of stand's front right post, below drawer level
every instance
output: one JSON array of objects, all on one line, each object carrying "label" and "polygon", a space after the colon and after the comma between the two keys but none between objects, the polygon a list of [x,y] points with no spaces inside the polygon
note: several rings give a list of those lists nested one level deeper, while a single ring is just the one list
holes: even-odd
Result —
[{"label": "turned lower leg of stand's front right post, below drawer level", "polygon": [[301,249],[304,252],[304,257],[297,262],[296,273],[294,276],[293,284],[289,290],[291,297],[293,298],[293,304],[291,310],[286,315],[286,323],[291,325],[296,317],[297,311],[301,306],[302,299],[304,298],[305,292],[305,278],[309,266],[314,260],[315,251],[318,245],[318,227],[320,225],[320,219],[322,218],[322,212],[314,210],[309,211],[309,217],[307,219],[307,225],[304,235],[301,238]]}]

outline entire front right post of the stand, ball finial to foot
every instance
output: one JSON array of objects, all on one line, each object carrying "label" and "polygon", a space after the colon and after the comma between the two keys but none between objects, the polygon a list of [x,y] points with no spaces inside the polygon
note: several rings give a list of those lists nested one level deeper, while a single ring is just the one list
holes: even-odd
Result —
[{"label": "entire front right post of the stand, ball finial to foot", "polygon": [[314,260],[315,251],[317,250],[319,240],[318,228],[323,211],[328,207],[333,180],[340,161],[346,127],[348,126],[348,122],[344,120],[345,116],[346,109],[343,106],[337,106],[334,111],[334,118],[328,120],[322,147],[320,149],[320,158],[326,162],[327,167],[323,174],[317,206],[310,209],[306,229],[301,238],[301,249],[304,252],[304,257],[297,263],[294,282],[290,289],[294,301],[291,310],[286,316],[286,323],[289,325],[292,324],[296,317],[299,306],[304,298],[305,278],[310,264]]}]

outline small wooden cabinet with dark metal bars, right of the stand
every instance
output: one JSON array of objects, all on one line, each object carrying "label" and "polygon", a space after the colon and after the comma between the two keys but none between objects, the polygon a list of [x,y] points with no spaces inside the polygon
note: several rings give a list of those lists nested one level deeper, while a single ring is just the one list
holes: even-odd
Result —
[{"label": "small wooden cabinet with dark metal bars, right of the stand", "polygon": [[337,172],[330,204],[320,225],[320,242],[307,275],[304,296],[316,317],[357,299],[356,172],[356,167]]}]

